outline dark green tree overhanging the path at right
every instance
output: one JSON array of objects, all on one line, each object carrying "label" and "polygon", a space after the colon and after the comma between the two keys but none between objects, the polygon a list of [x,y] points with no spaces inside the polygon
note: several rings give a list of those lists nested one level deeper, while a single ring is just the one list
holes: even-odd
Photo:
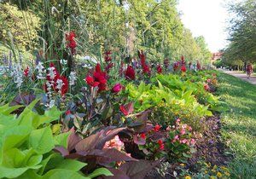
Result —
[{"label": "dark green tree overhanging the path at right", "polygon": [[255,9],[254,0],[230,4],[236,18],[230,20],[230,45],[224,50],[224,61],[256,61]]}]

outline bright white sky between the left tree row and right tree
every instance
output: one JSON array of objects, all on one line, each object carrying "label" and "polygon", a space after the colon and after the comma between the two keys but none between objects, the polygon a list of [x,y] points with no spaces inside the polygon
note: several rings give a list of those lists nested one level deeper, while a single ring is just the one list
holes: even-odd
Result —
[{"label": "bright white sky between the left tree row and right tree", "polygon": [[227,45],[226,21],[229,14],[224,4],[225,0],[179,0],[177,7],[184,26],[194,37],[204,36],[212,52],[218,52]]}]

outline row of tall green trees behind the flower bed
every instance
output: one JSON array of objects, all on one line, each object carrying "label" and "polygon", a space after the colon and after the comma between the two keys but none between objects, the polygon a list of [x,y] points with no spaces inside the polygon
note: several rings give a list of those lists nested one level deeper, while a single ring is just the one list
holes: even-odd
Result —
[{"label": "row of tall green trees behind the flower bed", "polygon": [[[25,34],[15,32],[27,32],[18,23],[34,22],[27,24],[32,29],[28,31],[32,32],[29,39],[34,40],[38,35],[37,47],[49,59],[65,58],[65,32],[70,31],[77,33],[78,55],[98,56],[110,49],[123,58],[137,55],[137,49],[143,49],[148,59],[155,62],[165,58],[175,60],[181,55],[189,61],[210,59],[204,39],[193,38],[183,26],[177,0],[18,0],[3,1],[3,7],[8,9],[0,14],[11,16],[9,26],[15,28],[11,32],[27,50],[34,46],[29,46]],[[27,17],[11,14],[11,9]],[[17,17],[20,17],[17,26],[11,26]],[[0,31],[3,29],[0,26]],[[6,37],[0,36],[1,41],[6,41]]]}]

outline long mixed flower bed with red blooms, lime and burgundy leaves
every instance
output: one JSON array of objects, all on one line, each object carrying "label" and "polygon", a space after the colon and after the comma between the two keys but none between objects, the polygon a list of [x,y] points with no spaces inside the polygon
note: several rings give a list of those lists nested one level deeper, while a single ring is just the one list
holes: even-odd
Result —
[{"label": "long mixed flower bed with red blooms, lime and burgundy leaves", "polygon": [[[73,33],[67,39],[74,54]],[[3,100],[7,91],[16,97],[0,111],[0,176],[143,178],[153,169],[169,178],[228,176],[218,166],[212,173],[192,166],[224,165],[208,157],[219,148],[207,146],[218,143],[213,114],[224,110],[212,95],[216,72],[199,63],[187,70],[183,57],[170,72],[170,62],[150,67],[143,52],[138,56],[118,65],[108,51],[85,73],[67,72],[64,60],[16,65],[7,77],[14,83],[3,90]]]}]

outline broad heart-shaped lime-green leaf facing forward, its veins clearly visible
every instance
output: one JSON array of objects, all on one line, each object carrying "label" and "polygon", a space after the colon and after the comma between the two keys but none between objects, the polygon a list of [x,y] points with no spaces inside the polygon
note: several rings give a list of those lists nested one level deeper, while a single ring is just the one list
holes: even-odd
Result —
[{"label": "broad heart-shaped lime-green leaf facing forward, its veins clearly visible", "polygon": [[29,146],[38,154],[44,154],[51,151],[55,147],[55,141],[50,127],[45,127],[40,130],[32,130],[29,137]]}]

